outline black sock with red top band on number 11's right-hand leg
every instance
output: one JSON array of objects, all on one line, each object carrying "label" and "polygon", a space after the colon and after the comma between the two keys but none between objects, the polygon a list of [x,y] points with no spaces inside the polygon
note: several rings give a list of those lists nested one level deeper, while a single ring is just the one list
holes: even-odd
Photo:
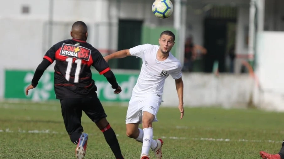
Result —
[{"label": "black sock with red top band on number 11's right-hand leg", "polygon": [[117,141],[115,132],[113,131],[111,126],[108,124],[104,129],[101,130],[101,132],[103,132],[105,139],[106,139],[106,142],[110,146],[110,148],[112,149],[114,156],[117,159],[123,159],[119,143]]}]

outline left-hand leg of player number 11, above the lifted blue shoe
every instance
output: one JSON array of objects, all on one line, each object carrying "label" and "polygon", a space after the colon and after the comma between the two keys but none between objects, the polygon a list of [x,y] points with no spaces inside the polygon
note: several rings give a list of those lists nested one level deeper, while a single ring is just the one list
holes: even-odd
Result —
[{"label": "left-hand leg of player number 11, above the lifted blue shoe", "polygon": [[80,99],[63,99],[60,100],[60,104],[66,131],[72,143],[77,145],[83,132],[81,125],[82,109],[78,107]]}]

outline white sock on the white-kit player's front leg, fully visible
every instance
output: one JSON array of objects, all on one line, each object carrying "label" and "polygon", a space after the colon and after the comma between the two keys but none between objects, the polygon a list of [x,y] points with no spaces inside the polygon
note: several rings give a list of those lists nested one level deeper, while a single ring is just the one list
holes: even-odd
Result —
[{"label": "white sock on the white-kit player's front leg, fully visible", "polygon": [[143,136],[143,145],[142,145],[142,151],[141,151],[141,155],[143,154],[149,154],[150,151],[150,146],[152,143],[152,138],[153,138],[153,128],[149,127],[149,128],[145,128],[143,129],[144,132],[144,136]]}]

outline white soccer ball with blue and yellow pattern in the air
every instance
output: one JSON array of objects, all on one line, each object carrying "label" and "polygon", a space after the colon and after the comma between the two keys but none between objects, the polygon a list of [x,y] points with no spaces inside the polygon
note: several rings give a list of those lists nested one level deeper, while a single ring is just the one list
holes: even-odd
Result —
[{"label": "white soccer ball with blue and yellow pattern in the air", "polygon": [[152,11],[158,18],[168,18],[173,12],[172,2],[170,0],[155,0],[152,5]]}]

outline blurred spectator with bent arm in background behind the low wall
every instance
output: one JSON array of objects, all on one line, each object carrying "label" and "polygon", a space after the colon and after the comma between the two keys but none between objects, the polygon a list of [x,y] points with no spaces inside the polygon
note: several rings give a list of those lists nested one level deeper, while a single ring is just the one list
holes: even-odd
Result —
[{"label": "blurred spectator with bent arm in background behind the low wall", "polygon": [[193,37],[189,36],[185,41],[184,64],[182,71],[193,71],[193,62],[199,53],[206,54],[207,50],[200,45],[193,44]]}]

